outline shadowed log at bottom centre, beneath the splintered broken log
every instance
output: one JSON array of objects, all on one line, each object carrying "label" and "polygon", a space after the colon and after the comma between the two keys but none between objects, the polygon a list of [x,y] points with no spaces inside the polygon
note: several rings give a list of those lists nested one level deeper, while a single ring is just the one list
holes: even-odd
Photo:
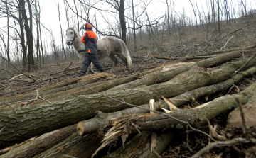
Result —
[{"label": "shadowed log at bottom centre, beneath the splintered broken log", "polygon": [[108,154],[104,158],[107,157],[139,157],[139,158],[158,158],[156,153],[161,154],[166,146],[171,142],[172,138],[174,137],[174,132],[165,131],[165,132],[158,132],[157,140],[156,140],[156,147],[154,151],[150,152],[150,135],[151,132],[141,132],[132,140],[129,140],[125,143],[124,147],[120,147],[116,151]]}]

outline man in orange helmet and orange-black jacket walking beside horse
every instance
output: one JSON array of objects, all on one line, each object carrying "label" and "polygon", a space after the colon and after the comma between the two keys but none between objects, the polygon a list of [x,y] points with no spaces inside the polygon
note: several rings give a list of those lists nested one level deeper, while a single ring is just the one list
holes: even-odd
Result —
[{"label": "man in orange helmet and orange-black jacket walking beside horse", "polygon": [[85,23],[85,35],[82,36],[82,43],[85,43],[85,59],[82,62],[82,68],[78,75],[74,77],[82,77],[92,62],[100,72],[106,72],[97,57],[97,35],[92,31],[92,25]]}]

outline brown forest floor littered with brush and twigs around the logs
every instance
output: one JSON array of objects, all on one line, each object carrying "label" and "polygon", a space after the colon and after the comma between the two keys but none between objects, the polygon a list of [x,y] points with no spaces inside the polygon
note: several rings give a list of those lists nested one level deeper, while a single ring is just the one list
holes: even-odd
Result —
[{"label": "brown forest floor littered with brush and twigs around the logs", "polygon": [[[227,44],[223,50],[227,50],[235,47],[246,47],[248,45],[255,45],[255,36],[256,36],[256,28],[255,23],[242,28],[242,26],[246,26],[248,23],[252,23],[252,21],[248,20],[240,20],[237,22],[233,22],[235,24],[231,26],[225,27],[223,29],[223,34],[220,36],[216,31],[212,31],[209,34],[208,40],[206,40],[205,32],[195,33],[195,30],[190,30],[189,28],[186,31],[186,35],[183,35],[182,41],[177,41],[175,38],[164,38],[163,49],[164,52],[158,53],[157,49],[154,47],[149,47],[150,43],[140,43],[138,46],[137,52],[132,52],[132,67],[130,67],[130,72],[125,71],[124,63],[119,60],[119,64],[114,71],[114,74],[117,77],[126,77],[135,72],[145,72],[146,70],[153,69],[160,65],[170,64],[171,62],[175,62],[172,60],[162,60],[149,57],[149,55],[162,55],[166,57],[185,57],[188,55],[194,55],[203,52],[210,52],[215,50],[220,50],[222,47]],[[241,24],[242,23],[242,24]],[[234,31],[242,28],[242,30],[233,33]],[[205,29],[205,28],[202,28]],[[231,38],[234,36],[233,38]],[[178,37],[178,36],[177,36]],[[230,39],[231,38],[231,39]],[[230,39],[230,40],[229,40]],[[229,40],[229,41],[228,41]],[[227,43],[228,41],[228,43]],[[132,50],[132,47],[128,45],[129,50]],[[251,57],[256,53],[256,50],[252,52],[247,52],[240,59],[235,59],[232,62],[237,60],[242,60],[242,58],[246,59],[247,57]],[[198,59],[188,60],[187,62],[196,62]],[[70,63],[72,64],[70,65]],[[110,72],[112,67],[112,61],[110,59],[101,60],[103,66]],[[31,81],[24,76],[19,76],[21,72],[18,72],[16,69],[12,68],[7,71],[0,71],[1,76],[1,86],[0,86],[0,97],[1,98],[9,98],[11,96],[16,96],[19,94],[24,94],[29,91],[33,91],[36,89],[40,89],[46,86],[50,86],[60,81],[66,81],[68,79],[73,78],[74,74],[78,74],[82,62],[80,60],[63,60],[58,61],[51,64],[46,64],[41,67],[38,67],[34,72],[30,75],[34,75],[35,81]],[[211,69],[216,69],[220,67],[211,67]],[[97,69],[93,68],[96,72]],[[27,73],[26,73],[27,74]],[[15,77],[15,78],[14,78]],[[242,79],[239,84],[235,85],[236,87],[230,89],[230,91],[223,91],[220,94],[216,94],[213,96],[209,96],[208,101],[213,100],[214,98],[225,96],[226,94],[238,94],[239,91],[242,91],[247,86],[250,86],[255,81],[255,76],[247,77]],[[43,81],[42,81],[43,80]],[[103,79],[104,80],[104,79]],[[95,80],[96,81],[96,80]],[[183,106],[186,108],[186,105]],[[218,131],[223,132],[224,130],[228,130],[226,128],[228,119],[228,113],[223,115],[219,115],[217,118],[214,118],[210,121],[212,125],[218,125]],[[201,127],[200,130],[203,130],[206,133],[209,133],[208,126]],[[250,133],[255,135],[255,128],[250,129]],[[238,128],[235,130],[235,135],[241,136],[243,135],[242,128]],[[198,132],[186,130],[179,131],[179,134],[171,140],[170,144],[166,147],[163,153],[161,153],[162,157],[191,157],[193,154],[198,152],[199,149],[206,147],[208,145],[208,137],[202,135]],[[252,147],[250,145],[250,147]],[[231,147],[215,147],[210,150],[210,152],[203,155],[203,157],[245,157],[245,149],[249,147],[246,144],[231,146]],[[223,156],[220,155],[223,154]],[[160,153],[159,153],[160,154]]]}]

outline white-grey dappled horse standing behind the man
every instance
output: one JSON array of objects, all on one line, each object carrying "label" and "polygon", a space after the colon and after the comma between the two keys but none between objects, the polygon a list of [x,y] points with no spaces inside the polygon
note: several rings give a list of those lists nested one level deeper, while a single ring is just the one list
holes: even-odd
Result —
[{"label": "white-grey dappled horse standing behind the man", "polygon": [[[78,52],[78,57],[80,60],[83,60],[85,58],[85,44],[82,43],[82,36],[77,31],[75,31],[73,27],[70,27],[66,30],[66,35],[66,44],[73,45],[75,50]],[[123,40],[114,37],[106,37],[97,40],[97,56],[99,60],[102,60],[105,57],[110,57],[110,59],[114,62],[110,72],[114,71],[118,63],[117,58],[114,57],[115,55],[124,61],[125,67],[129,71],[129,66],[132,65],[132,59]],[[92,71],[92,64],[90,64],[89,71],[95,73]]]}]

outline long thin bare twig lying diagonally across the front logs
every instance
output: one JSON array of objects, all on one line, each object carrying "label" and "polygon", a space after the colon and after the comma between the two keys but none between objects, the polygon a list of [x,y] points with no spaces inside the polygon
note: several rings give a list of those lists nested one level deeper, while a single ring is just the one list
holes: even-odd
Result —
[{"label": "long thin bare twig lying diagonally across the front logs", "polygon": [[[95,91],[94,89],[91,89],[89,86],[86,86],[85,84],[83,84],[83,85],[84,85],[85,87],[87,87],[87,89],[90,89],[90,90],[92,90],[92,91]],[[119,100],[117,100],[117,99],[115,99],[115,98],[112,98],[112,97],[110,97],[110,96],[107,96],[107,95],[105,95],[105,94],[102,94],[102,93],[100,93],[99,91],[95,91],[95,92],[96,92],[97,94],[102,95],[102,96],[106,96],[107,98],[110,98],[110,99],[112,99],[113,101],[117,101],[117,102],[119,102],[119,103],[124,103],[124,104],[126,104],[126,105],[128,105],[128,106],[137,107],[137,108],[142,108],[142,109],[147,110],[147,111],[153,111],[154,113],[159,113],[159,114],[161,114],[161,115],[165,115],[165,116],[167,116],[167,117],[169,117],[169,118],[172,118],[172,119],[174,119],[174,120],[177,120],[177,121],[179,121],[179,122],[181,122],[181,123],[184,123],[184,124],[188,125],[188,127],[191,128],[191,130],[194,130],[194,131],[196,131],[196,132],[201,132],[203,135],[207,135],[208,137],[210,137],[210,135],[208,135],[206,132],[203,132],[203,131],[201,131],[201,130],[197,130],[196,128],[193,128],[188,122],[183,121],[183,120],[179,120],[178,118],[174,118],[174,117],[172,117],[172,116],[170,116],[170,115],[167,115],[166,113],[161,113],[161,112],[159,112],[159,111],[154,111],[154,110],[151,110],[151,109],[149,109],[149,108],[144,108],[144,107],[140,107],[140,106],[135,106],[135,105],[133,105],[133,104],[131,104],[131,103],[126,103],[126,102],[124,102],[124,101],[119,101]],[[213,137],[210,137],[210,139],[213,140],[213,141],[216,141],[215,139],[213,139]]]}]

